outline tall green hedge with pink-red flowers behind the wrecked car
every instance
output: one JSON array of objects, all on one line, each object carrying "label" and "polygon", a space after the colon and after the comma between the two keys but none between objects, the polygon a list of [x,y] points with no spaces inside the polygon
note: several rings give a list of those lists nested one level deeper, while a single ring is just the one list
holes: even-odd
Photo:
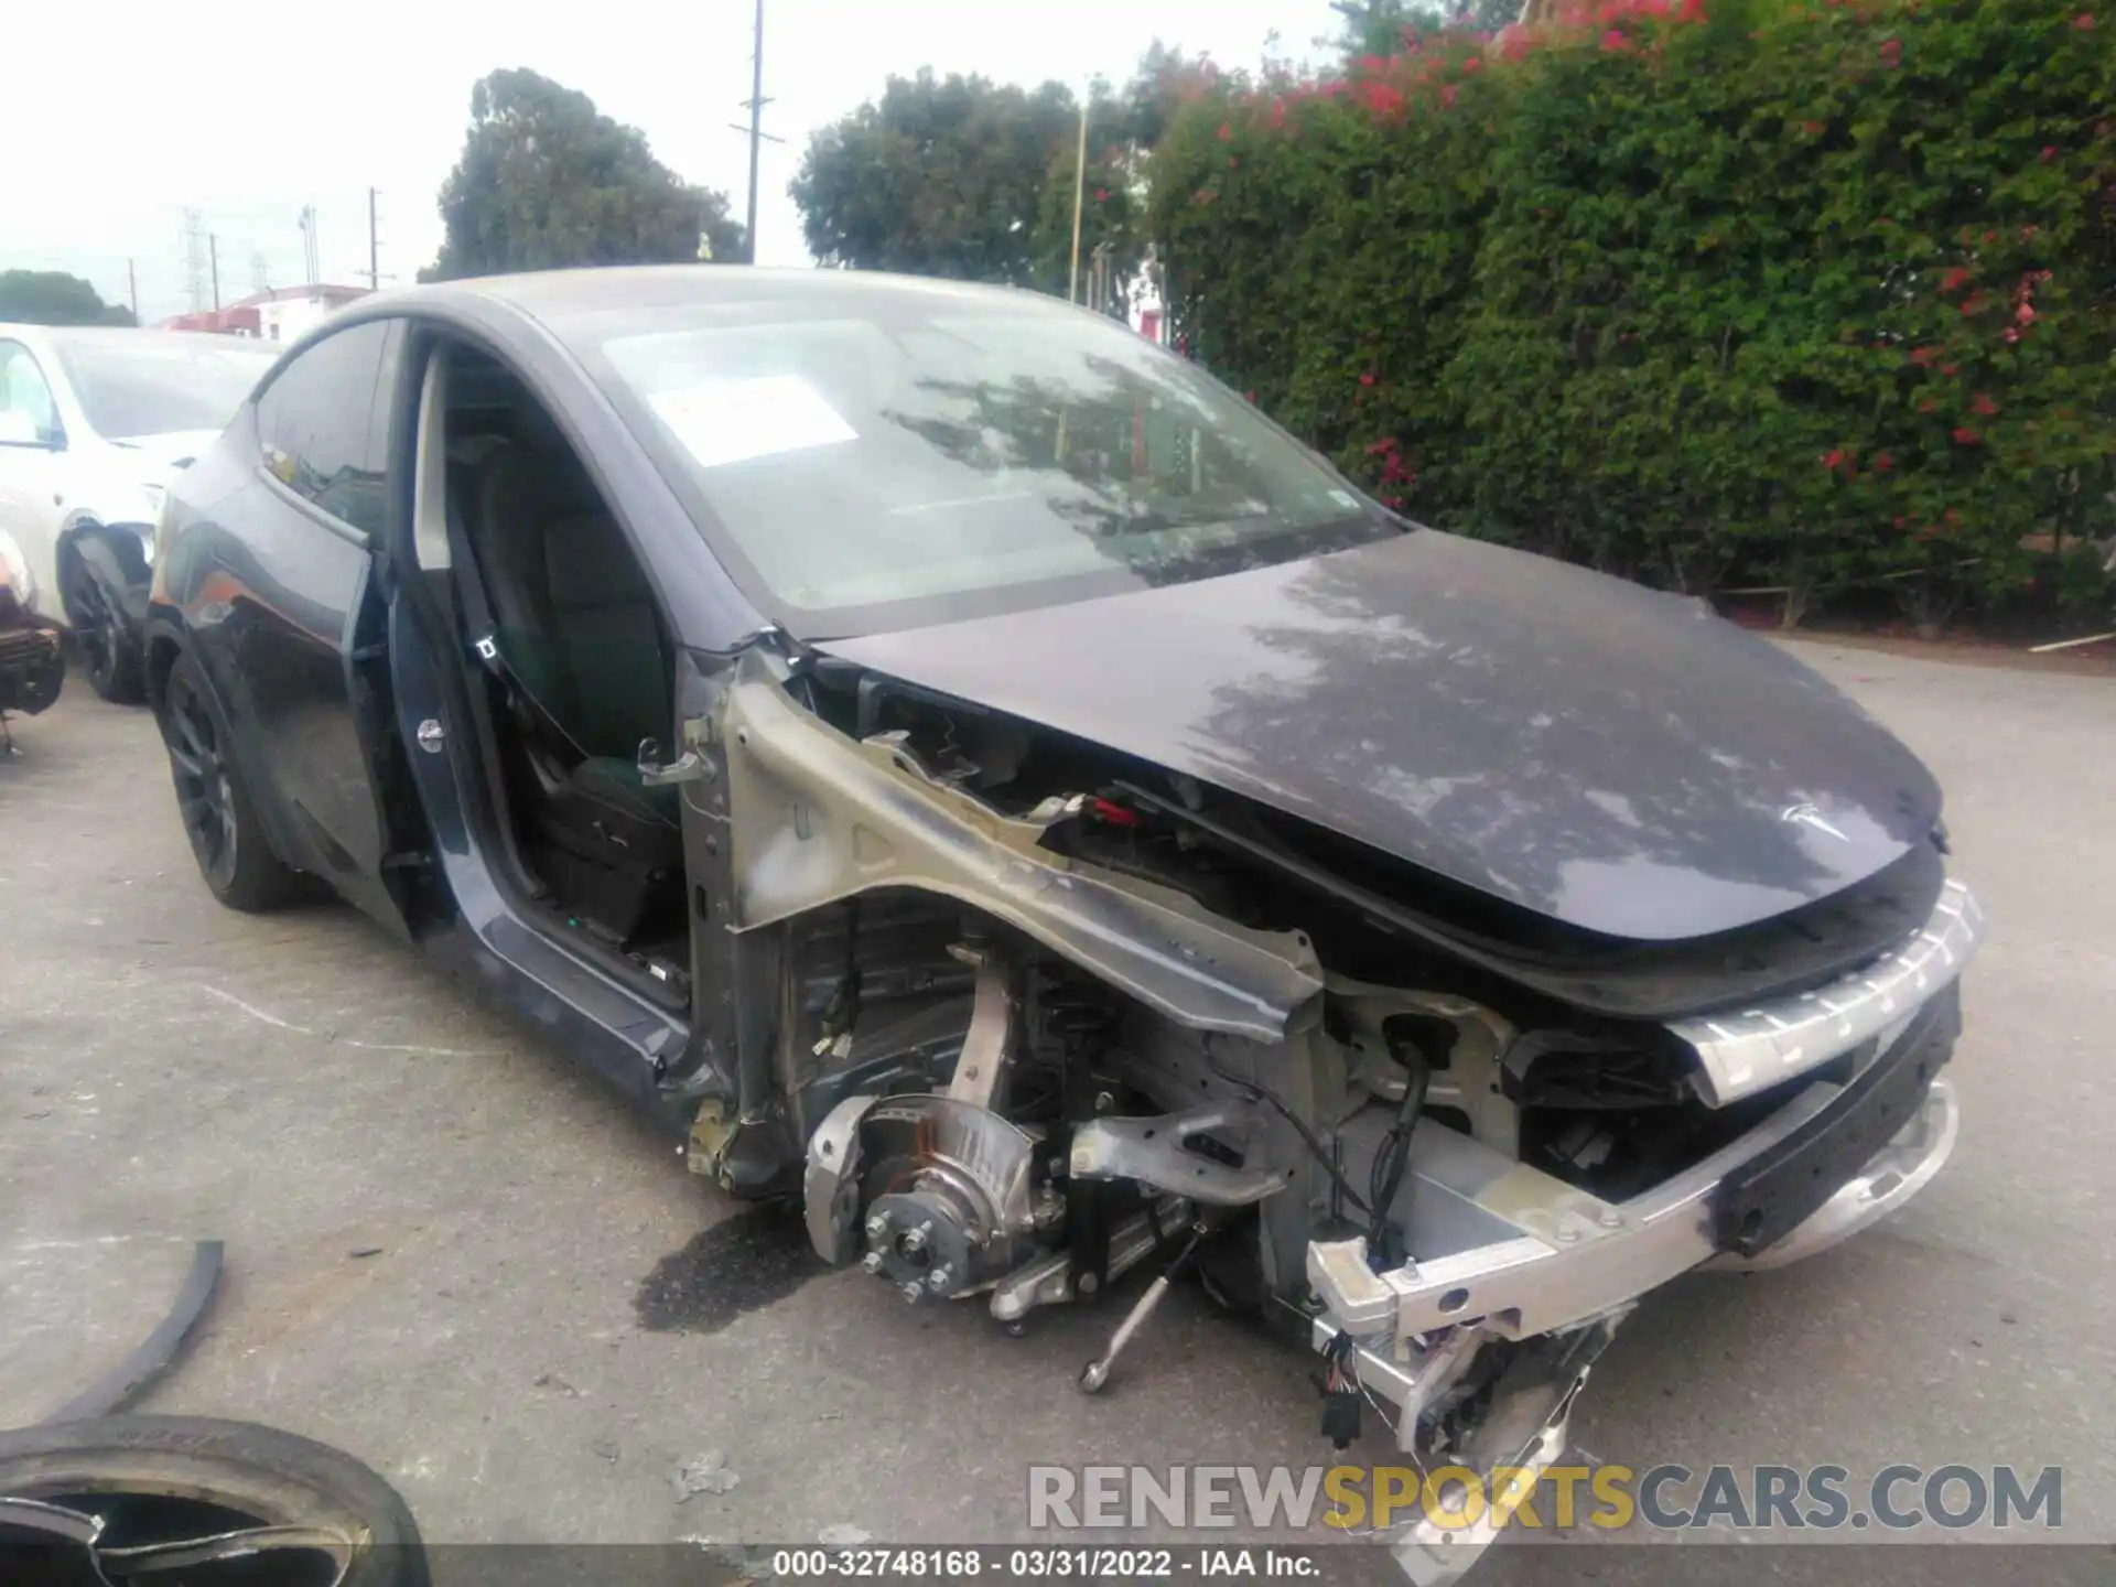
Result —
[{"label": "tall green hedge with pink-red flowers behind the wrecked car", "polygon": [[1198,80],[1172,326],[1428,523],[1936,622],[2112,531],[2105,4],[1648,0]]}]

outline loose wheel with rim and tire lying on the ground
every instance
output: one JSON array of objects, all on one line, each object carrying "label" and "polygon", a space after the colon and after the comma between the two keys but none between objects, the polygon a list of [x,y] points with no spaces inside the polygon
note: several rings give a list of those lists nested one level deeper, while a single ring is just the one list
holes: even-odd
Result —
[{"label": "loose wheel with rim and tire lying on the ground", "polygon": [[427,1566],[396,1490],[330,1445],[108,1416],[0,1433],[0,1581],[425,1587]]}]

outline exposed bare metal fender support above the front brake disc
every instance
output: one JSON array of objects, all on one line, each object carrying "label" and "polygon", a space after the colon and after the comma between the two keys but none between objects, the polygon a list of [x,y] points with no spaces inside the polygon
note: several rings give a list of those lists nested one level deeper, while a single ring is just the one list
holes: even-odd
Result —
[{"label": "exposed bare metal fender support above the front brake disc", "polygon": [[1007,817],[796,705],[745,654],[726,694],[736,931],[880,887],[961,899],[1196,1030],[1282,1041],[1322,990],[1301,933],[1251,931],[1193,899],[1039,846]]}]

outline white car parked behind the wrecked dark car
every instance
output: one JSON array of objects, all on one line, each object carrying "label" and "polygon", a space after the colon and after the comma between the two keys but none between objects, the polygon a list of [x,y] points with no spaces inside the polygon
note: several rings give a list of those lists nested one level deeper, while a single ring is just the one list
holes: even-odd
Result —
[{"label": "white car parked behind the wrecked dark car", "polygon": [[275,351],[233,336],[0,326],[0,557],[19,565],[23,607],[74,631],[106,700],[144,698],[140,624],[163,491]]}]

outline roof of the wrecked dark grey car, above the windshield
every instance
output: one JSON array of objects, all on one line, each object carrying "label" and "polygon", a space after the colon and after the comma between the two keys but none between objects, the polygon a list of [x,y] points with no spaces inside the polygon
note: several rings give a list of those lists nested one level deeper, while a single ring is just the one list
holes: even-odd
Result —
[{"label": "roof of the wrecked dark grey car, above the windshield", "polygon": [[565,336],[567,322],[595,317],[603,330],[612,317],[626,311],[652,320],[669,309],[709,307],[713,303],[783,300],[802,313],[844,315],[861,307],[912,296],[952,298],[971,305],[1007,305],[1016,311],[1047,307],[1052,313],[1077,313],[1060,298],[1005,286],[942,281],[925,275],[887,275],[882,271],[834,269],[766,269],[751,264],[624,264],[578,271],[529,271],[523,275],[478,275],[461,281],[434,281],[402,288],[360,300],[360,311],[387,313],[440,298],[491,298],[542,320]]}]

